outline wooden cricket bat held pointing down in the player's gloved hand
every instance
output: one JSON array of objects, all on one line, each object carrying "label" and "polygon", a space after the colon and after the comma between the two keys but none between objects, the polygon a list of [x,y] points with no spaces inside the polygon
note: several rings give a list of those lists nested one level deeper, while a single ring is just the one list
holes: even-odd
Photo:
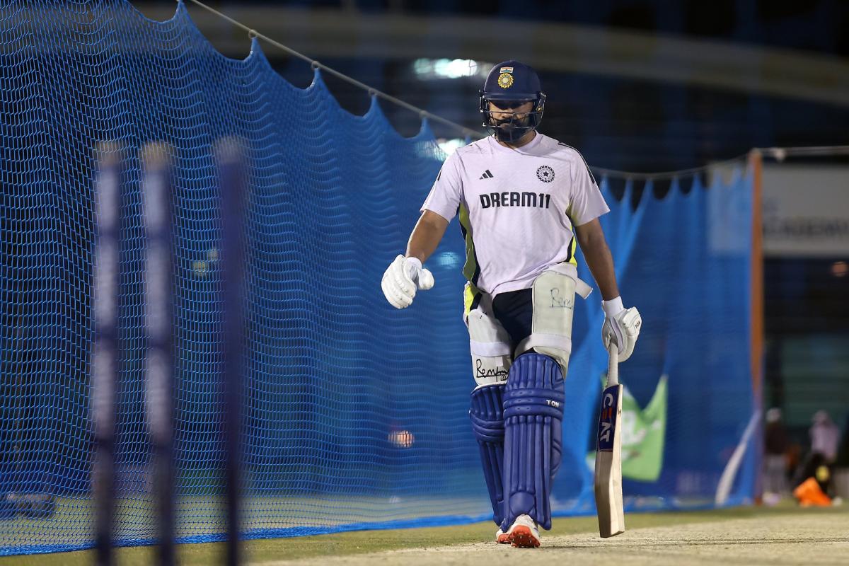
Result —
[{"label": "wooden cricket bat held pointing down in the player's gloved hand", "polygon": [[619,350],[608,351],[607,387],[601,395],[599,434],[595,448],[595,507],[599,513],[599,535],[606,539],[625,532],[622,507],[622,386],[619,384]]}]

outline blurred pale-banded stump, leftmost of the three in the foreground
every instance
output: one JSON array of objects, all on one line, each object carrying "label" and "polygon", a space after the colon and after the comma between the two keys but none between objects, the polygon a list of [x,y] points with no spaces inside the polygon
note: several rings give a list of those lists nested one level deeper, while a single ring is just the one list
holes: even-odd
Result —
[{"label": "blurred pale-banded stump, leftmost of the three in the foreground", "polygon": [[94,203],[94,347],[92,489],[95,557],[98,566],[113,563],[115,524],[115,389],[118,381],[118,238],[121,219],[121,153],[113,143],[98,147]]}]

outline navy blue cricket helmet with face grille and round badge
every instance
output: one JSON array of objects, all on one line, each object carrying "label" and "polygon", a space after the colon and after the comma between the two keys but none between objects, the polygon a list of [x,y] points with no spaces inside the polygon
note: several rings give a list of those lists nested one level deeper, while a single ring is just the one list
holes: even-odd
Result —
[{"label": "navy blue cricket helmet with face grille and round badge", "polygon": [[[510,110],[521,104],[533,102],[527,114],[511,115],[508,120],[495,120],[489,103],[499,109]],[[537,71],[519,61],[509,60],[492,67],[481,90],[483,126],[499,142],[515,142],[531,130],[536,130],[543,120],[545,94],[539,84]]]}]

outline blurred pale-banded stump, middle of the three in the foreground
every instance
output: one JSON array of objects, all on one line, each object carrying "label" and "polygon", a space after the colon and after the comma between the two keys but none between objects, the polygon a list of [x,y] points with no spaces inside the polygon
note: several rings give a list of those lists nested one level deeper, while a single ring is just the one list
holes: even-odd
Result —
[{"label": "blurred pale-banded stump, middle of the three in the foreground", "polygon": [[158,563],[174,563],[174,335],[171,160],[162,143],[142,152],[146,234],[144,304],[147,327],[145,405],[153,444]]}]

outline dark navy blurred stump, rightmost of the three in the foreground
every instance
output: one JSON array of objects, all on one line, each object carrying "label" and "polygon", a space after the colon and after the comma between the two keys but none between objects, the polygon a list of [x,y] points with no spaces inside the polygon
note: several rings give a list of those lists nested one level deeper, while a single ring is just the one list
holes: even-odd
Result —
[{"label": "dark navy blurred stump, rightmost of the three in the foreground", "polygon": [[239,547],[240,442],[242,378],[244,372],[244,284],[245,284],[245,182],[239,143],[225,138],[216,145],[218,182],[221,190],[222,293],[224,306],[223,393],[224,393],[224,477],[227,490],[228,566],[241,559]]}]

